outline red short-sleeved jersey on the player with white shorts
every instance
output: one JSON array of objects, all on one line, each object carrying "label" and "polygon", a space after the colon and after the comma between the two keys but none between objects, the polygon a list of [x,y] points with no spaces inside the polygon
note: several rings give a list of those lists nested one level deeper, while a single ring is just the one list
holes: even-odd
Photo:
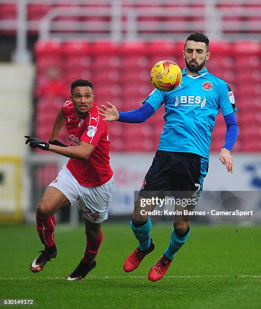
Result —
[{"label": "red short-sleeved jersey on the player with white shorts", "polygon": [[97,105],[93,103],[86,118],[82,119],[76,118],[71,101],[65,102],[62,111],[71,146],[79,145],[81,140],[95,146],[88,160],[71,158],[67,163],[68,170],[82,186],[97,187],[106,183],[113,176],[109,157],[110,141],[108,125],[98,115]]}]

